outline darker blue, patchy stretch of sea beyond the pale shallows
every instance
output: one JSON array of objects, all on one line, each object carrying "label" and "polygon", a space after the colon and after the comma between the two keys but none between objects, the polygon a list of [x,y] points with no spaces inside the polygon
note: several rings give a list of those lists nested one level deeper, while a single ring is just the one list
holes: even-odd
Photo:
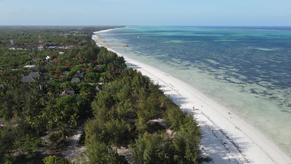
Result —
[{"label": "darker blue, patchy stretch of sea beyond the pale shallows", "polygon": [[[138,27],[113,30],[105,37],[127,42],[130,47],[124,51],[139,52],[135,55],[148,56],[169,67],[198,68],[199,73],[218,81],[257,86],[243,91],[290,108],[278,95],[291,96],[291,31],[240,29]],[[118,35],[122,33],[126,35]]]}]

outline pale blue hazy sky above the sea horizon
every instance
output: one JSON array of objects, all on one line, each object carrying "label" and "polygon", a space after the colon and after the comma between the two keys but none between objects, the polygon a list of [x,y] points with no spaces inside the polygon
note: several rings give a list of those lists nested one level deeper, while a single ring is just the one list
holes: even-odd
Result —
[{"label": "pale blue hazy sky above the sea horizon", "polygon": [[291,26],[291,0],[0,0],[0,25]]}]

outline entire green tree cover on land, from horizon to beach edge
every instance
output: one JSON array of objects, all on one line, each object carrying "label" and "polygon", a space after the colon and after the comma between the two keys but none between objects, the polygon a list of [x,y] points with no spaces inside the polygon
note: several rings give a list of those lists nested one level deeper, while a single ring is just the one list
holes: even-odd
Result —
[{"label": "entire green tree cover on land, from horizon to beach edge", "polygon": [[[193,117],[149,78],[127,69],[123,57],[92,41],[92,32],[107,28],[0,28],[0,163],[42,154],[50,156],[38,163],[68,164],[54,155],[84,122],[86,151],[79,163],[126,164],[121,147],[136,164],[205,160]],[[10,37],[25,48],[11,49]],[[51,44],[59,48],[46,46]],[[22,82],[31,72],[43,76]]]}]

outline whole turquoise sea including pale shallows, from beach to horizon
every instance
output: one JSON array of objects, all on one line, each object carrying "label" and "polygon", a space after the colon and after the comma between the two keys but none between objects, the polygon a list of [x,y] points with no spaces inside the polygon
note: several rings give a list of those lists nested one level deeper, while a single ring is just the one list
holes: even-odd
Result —
[{"label": "whole turquoise sea including pale shallows, from beach to horizon", "polygon": [[101,35],[242,116],[291,155],[291,28],[129,27]]}]

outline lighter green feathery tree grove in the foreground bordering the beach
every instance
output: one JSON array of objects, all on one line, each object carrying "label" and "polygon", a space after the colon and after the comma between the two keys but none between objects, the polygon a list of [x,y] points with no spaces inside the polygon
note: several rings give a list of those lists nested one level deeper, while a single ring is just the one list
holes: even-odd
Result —
[{"label": "lighter green feathery tree grove in the foreground bordering the beach", "polygon": [[[95,117],[85,127],[90,164],[112,163],[112,157],[101,160],[91,153],[112,154],[108,145],[115,149],[130,145],[136,164],[200,162],[200,132],[193,117],[183,114],[158,85],[141,73],[127,69],[122,77],[104,86],[97,97],[92,103]],[[167,105],[161,108],[161,104]],[[154,119],[164,119],[172,132],[166,133],[167,127],[154,123]]]}]

